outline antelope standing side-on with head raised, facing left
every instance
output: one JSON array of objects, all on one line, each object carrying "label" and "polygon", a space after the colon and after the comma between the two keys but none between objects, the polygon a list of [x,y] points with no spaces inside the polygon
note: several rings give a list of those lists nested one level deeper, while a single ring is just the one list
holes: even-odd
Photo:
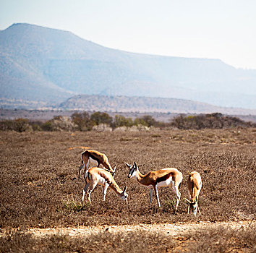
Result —
[{"label": "antelope standing side-on with head raised, facing left", "polygon": [[171,186],[176,194],[176,212],[181,197],[178,187],[182,182],[182,172],[178,171],[176,168],[163,168],[158,171],[150,171],[143,175],[140,173],[136,163],[134,163],[133,166],[129,165],[128,163],[126,163],[126,165],[129,168],[128,178],[131,179],[135,176],[140,184],[148,186],[150,189],[150,205],[152,202],[153,189],[155,191],[155,197],[158,201],[158,206],[161,207],[158,197],[158,187]]}]

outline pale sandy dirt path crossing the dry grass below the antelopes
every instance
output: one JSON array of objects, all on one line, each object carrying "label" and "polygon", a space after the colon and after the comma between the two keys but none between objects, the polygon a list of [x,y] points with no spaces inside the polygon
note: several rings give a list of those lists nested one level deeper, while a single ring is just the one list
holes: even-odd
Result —
[{"label": "pale sandy dirt path crossing the dry grass below the antelopes", "polygon": [[216,228],[218,226],[230,227],[233,229],[244,229],[249,225],[248,221],[236,222],[221,222],[211,223],[165,223],[165,224],[140,224],[140,225],[124,225],[124,226],[93,226],[93,227],[67,227],[67,228],[30,228],[27,233],[32,233],[34,236],[51,236],[51,235],[67,235],[67,236],[90,236],[93,233],[118,233],[124,231],[140,231],[145,230],[153,233],[164,233],[168,236],[179,236],[187,231]]}]

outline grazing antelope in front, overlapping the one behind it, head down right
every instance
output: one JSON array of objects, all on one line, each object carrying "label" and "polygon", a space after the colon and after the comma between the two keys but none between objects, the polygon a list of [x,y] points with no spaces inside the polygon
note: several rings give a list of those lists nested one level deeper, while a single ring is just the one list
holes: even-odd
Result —
[{"label": "grazing antelope in front, overlapping the one behind it, head down right", "polygon": [[128,194],[125,192],[127,186],[124,186],[122,191],[119,186],[116,184],[114,177],[110,172],[104,170],[103,168],[93,167],[88,171],[88,175],[85,178],[85,188],[82,191],[82,201],[85,200],[85,193],[88,194],[88,200],[90,202],[90,194],[93,192],[93,189],[97,184],[102,187],[103,201],[105,201],[106,191],[108,186],[116,192],[116,194],[121,197],[122,200],[128,202]]}]

